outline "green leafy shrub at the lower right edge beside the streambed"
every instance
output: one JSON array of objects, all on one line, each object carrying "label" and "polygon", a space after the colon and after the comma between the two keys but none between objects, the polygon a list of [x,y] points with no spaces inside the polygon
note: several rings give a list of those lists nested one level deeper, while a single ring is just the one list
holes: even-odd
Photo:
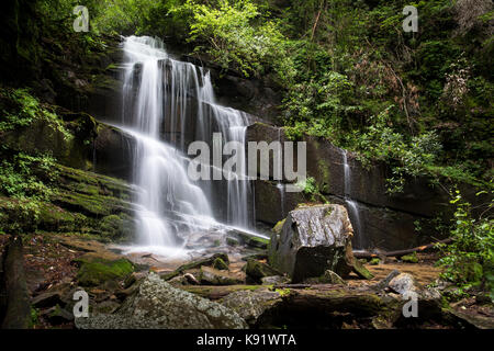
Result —
[{"label": "green leafy shrub at the lower right edge beside the streambed", "polygon": [[[494,219],[489,216],[474,219],[471,205],[462,201],[459,191],[451,203],[457,206],[451,230],[453,242],[439,245],[442,258],[438,264],[445,269],[441,278],[456,283],[459,295],[476,287],[489,291],[494,299]],[[494,200],[487,211],[493,205]]]}]

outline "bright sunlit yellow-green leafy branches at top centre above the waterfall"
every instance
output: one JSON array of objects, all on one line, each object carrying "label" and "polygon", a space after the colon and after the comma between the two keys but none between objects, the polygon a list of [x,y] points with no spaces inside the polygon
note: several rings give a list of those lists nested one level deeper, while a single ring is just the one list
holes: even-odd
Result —
[{"label": "bright sunlit yellow-green leafy branches at top centre above the waterfall", "polygon": [[250,0],[218,0],[216,5],[188,0],[171,10],[189,12],[188,41],[194,52],[206,53],[224,68],[240,70],[246,77],[260,77],[272,67],[281,82],[292,76],[285,38],[277,22],[262,16]]}]

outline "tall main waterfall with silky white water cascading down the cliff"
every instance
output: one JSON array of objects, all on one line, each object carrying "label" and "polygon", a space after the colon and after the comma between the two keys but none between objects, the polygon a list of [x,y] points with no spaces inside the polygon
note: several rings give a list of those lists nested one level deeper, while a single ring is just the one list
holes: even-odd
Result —
[{"label": "tall main waterfall with silky white water cascading down the cliff", "polygon": [[[186,155],[188,143],[211,145],[214,132],[244,149],[247,115],[216,104],[209,71],[172,59],[161,41],[130,36],[123,52],[121,128],[137,144],[134,181],[142,190],[135,200],[139,248],[165,254],[178,252],[188,233],[209,230],[217,226],[217,220],[251,227],[248,203],[252,191],[243,177],[245,151],[236,152],[237,169],[218,185],[192,182]],[[218,199],[222,193],[224,201]],[[215,215],[213,202],[226,207],[226,216],[215,218],[221,215]]]}]

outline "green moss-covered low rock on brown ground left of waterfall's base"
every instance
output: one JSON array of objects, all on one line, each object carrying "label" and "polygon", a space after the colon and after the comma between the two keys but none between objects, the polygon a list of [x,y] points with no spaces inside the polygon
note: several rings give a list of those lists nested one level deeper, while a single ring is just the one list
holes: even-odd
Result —
[{"label": "green moss-covered low rock on brown ground left of waterfall's base", "polygon": [[127,259],[113,261],[104,259],[79,259],[76,261],[81,264],[77,273],[77,279],[82,286],[96,286],[106,281],[123,280],[134,272],[134,264]]}]

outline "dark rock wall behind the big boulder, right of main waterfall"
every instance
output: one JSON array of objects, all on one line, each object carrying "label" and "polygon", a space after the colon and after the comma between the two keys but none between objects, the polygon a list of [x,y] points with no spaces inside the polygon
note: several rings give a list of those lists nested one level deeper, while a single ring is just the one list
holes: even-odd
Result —
[{"label": "dark rock wall behind the big boulder, right of main waterfall", "polygon": [[[248,127],[248,141],[265,140],[269,144],[278,139],[287,140],[282,128],[280,133],[280,128],[262,123]],[[380,162],[366,168],[350,154],[350,186],[346,191],[343,150],[322,138],[304,136],[303,141],[306,141],[307,177],[315,179],[326,200],[344,204],[349,210],[356,231],[355,248],[397,250],[428,244],[439,237],[435,219],[448,220],[451,217],[453,208],[441,186],[434,186],[425,178],[408,179],[403,193],[390,195],[386,193],[386,178],[391,170]],[[307,199],[303,193],[282,194],[278,181],[272,180],[272,167],[269,176],[270,180],[258,179],[255,182],[256,219],[274,225]],[[475,189],[465,184],[461,188],[472,203],[480,201],[474,196]],[[348,208],[346,199],[357,204],[358,213]],[[416,230],[418,226],[420,230]]]}]

